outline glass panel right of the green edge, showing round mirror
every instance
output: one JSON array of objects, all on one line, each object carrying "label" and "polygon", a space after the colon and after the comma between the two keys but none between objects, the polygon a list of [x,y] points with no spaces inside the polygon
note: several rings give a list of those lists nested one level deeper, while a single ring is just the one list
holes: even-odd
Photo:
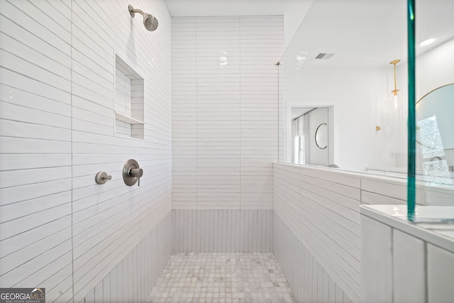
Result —
[{"label": "glass panel right of the green edge, showing round mirror", "polygon": [[[409,133],[415,136],[416,204],[450,206],[432,208],[436,211],[430,214],[424,208],[416,209],[416,221],[454,219],[452,11],[454,1],[416,0],[415,3],[416,121],[410,124]],[[409,210],[414,202],[409,199]]]}]

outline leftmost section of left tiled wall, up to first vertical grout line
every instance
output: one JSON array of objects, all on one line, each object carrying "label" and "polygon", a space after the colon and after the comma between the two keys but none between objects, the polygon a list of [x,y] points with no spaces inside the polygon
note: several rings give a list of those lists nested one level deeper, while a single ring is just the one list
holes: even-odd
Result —
[{"label": "leftmost section of left tiled wall, up to first vertical grout line", "polygon": [[72,298],[69,7],[0,2],[0,287],[49,302]]}]

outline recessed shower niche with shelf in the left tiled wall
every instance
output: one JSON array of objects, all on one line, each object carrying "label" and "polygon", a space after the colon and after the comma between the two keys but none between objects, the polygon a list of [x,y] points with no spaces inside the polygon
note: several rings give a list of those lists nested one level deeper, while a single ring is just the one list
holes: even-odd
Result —
[{"label": "recessed shower niche with shelf in the left tiled wall", "polygon": [[115,54],[115,134],[143,140],[143,77]]}]

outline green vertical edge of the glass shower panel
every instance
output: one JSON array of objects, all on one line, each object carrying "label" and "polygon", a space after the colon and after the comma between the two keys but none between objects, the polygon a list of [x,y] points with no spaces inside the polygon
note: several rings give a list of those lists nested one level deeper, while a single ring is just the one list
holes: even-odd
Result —
[{"label": "green vertical edge of the glass shower panel", "polygon": [[407,218],[414,221],[416,205],[416,89],[415,89],[415,0],[407,0],[407,42],[409,62],[408,183],[406,187]]}]

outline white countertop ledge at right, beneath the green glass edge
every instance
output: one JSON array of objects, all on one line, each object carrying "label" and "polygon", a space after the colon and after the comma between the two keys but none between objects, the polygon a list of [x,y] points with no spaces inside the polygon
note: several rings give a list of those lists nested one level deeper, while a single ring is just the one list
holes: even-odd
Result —
[{"label": "white countertop ledge at right, beneath the green glass edge", "polygon": [[406,216],[406,205],[360,206],[361,214],[400,229],[454,253],[454,206],[416,206],[416,221]]}]

